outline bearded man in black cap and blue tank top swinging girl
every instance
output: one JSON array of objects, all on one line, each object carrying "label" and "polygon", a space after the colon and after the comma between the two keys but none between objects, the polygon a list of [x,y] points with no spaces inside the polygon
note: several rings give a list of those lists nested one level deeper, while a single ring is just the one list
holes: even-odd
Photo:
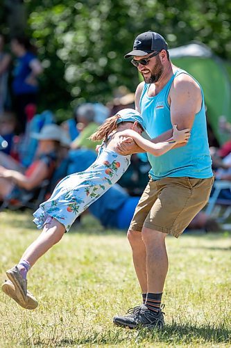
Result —
[{"label": "bearded man in black cap and blue tank top swinging girl", "polygon": [[[148,155],[150,181],[128,230],[144,305],[114,317],[120,326],[162,327],[161,299],[168,271],[165,237],[179,237],[206,205],[214,181],[212,161],[203,91],[193,77],[171,63],[164,38],[153,31],[138,35],[125,58],[130,56],[144,78],[135,93],[136,109],[153,142],[170,139],[173,125],[191,129],[187,144],[160,157]],[[118,143],[118,150],[122,155],[141,152],[126,139]]]}]

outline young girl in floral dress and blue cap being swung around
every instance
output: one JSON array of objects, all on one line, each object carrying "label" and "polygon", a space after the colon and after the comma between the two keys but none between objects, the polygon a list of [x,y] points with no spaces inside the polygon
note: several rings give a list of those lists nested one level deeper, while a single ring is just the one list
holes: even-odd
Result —
[{"label": "young girl in floral dress and blue cap being swung around", "polygon": [[51,198],[42,203],[33,214],[37,228],[43,231],[35,242],[28,246],[19,264],[6,271],[7,280],[3,292],[15,299],[20,306],[27,309],[37,307],[37,300],[27,291],[26,274],[35,262],[58,243],[65,232],[90,204],[110,189],[117,182],[130,164],[130,155],[122,156],[116,152],[120,136],[135,141],[143,150],[160,156],[173,148],[176,143],[187,142],[189,129],[178,131],[173,127],[173,138],[162,143],[152,143],[141,134],[143,120],[133,109],[123,109],[105,120],[103,125],[92,134],[93,141],[102,140],[99,155],[86,171],[68,175],[55,187]]}]

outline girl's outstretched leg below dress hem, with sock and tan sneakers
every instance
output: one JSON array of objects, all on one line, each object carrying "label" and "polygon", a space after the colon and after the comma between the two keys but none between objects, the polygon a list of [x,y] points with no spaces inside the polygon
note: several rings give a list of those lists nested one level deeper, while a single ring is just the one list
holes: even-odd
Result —
[{"label": "girl's outstretched leg below dress hem, with sock and tan sneakers", "polygon": [[[6,271],[6,275],[15,287],[14,296],[11,296],[12,292],[8,292],[8,296],[12,297],[12,299],[17,298],[17,303],[19,303],[20,306],[27,309],[34,309],[37,307],[37,300],[27,291],[27,271],[42,255],[44,255],[44,253],[46,253],[46,251],[60,241],[64,232],[65,227],[57,220],[51,217],[46,219],[41,235],[35,239],[35,242],[28,246],[19,264]],[[6,292],[5,290],[3,291]],[[32,306],[29,308],[28,303],[31,299],[33,299]]]}]

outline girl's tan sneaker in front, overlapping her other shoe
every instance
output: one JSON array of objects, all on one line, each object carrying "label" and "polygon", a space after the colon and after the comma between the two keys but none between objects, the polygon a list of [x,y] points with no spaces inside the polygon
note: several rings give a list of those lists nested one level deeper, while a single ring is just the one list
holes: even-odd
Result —
[{"label": "girl's tan sneaker in front, overlapping her other shoe", "polygon": [[17,266],[6,271],[6,275],[15,287],[17,299],[22,303],[26,303],[27,280],[22,277]]}]

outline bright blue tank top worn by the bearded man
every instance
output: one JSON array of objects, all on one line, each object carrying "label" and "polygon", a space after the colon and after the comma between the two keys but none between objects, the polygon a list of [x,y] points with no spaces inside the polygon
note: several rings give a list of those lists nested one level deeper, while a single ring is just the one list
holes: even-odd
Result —
[{"label": "bright blue tank top worn by the bearded man", "polygon": [[[160,93],[154,97],[148,97],[150,84],[144,84],[140,98],[140,108],[146,132],[151,139],[172,128],[168,95],[173,79],[182,73],[188,74],[185,70],[177,70]],[[198,84],[198,81],[196,83]],[[172,149],[160,157],[148,154],[148,160],[152,167],[149,173],[154,180],[159,180],[162,177],[196,177],[201,179],[212,177],[212,160],[209,155],[207,140],[205,100],[201,87],[200,90],[203,103],[200,111],[196,113],[189,143],[182,148]]]}]

